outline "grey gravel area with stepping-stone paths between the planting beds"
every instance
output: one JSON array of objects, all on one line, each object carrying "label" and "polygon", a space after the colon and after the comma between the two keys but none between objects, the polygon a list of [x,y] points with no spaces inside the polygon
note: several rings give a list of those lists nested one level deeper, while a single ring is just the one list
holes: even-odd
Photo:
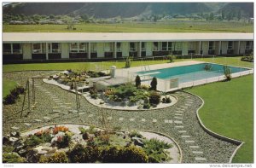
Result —
[{"label": "grey gravel area with stepping-stone paths between the planting beds", "polygon": [[[25,85],[27,77],[42,73],[49,75],[55,72],[6,72],[3,73],[3,78],[9,78]],[[8,134],[13,126],[19,127],[20,130],[30,129],[24,125],[25,123],[31,124],[32,128],[54,123],[79,123],[98,127],[108,125],[108,128],[119,127],[123,130],[152,130],[171,136],[179,144],[183,152],[183,163],[228,163],[237,147],[230,142],[224,142],[208,135],[201,128],[196,119],[196,109],[201,106],[202,102],[188,93],[174,93],[174,96],[177,96],[177,103],[172,107],[149,111],[100,108],[90,104],[83,96],[79,96],[81,107],[78,116],[78,113],[68,113],[67,108],[60,107],[60,103],[63,103],[62,106],[75,109],[75,94],[57,86],[45,84],[41,79],[37,79],[36,84],[38,103],[30,113],[25,113],[26,117],[20,119],[22,96],[14,105],[3,106],[3,134]],[[52,98],[49,94],[55,97]],[[25,104],[27,107],[27,102]],[[53,109],[59,109],[63,114],[52,114]],[[102,116],[107,119],[104,125]],[[49,117],[51,120],[44,121],[44,117]],[[42,122],[34,121],[34,119],[40,119]]]}]

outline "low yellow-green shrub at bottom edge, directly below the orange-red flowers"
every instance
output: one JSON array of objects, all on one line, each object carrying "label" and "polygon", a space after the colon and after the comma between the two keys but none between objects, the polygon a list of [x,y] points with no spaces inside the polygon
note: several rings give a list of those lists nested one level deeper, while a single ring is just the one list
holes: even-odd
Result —
[{"label": "low yellow-green shrub at bottom edge, directly below the orange-red flowers", "polygon": [[68,163],[67,154],[64,152],[55,153],[49,157],[42,155],[39,163]]}]

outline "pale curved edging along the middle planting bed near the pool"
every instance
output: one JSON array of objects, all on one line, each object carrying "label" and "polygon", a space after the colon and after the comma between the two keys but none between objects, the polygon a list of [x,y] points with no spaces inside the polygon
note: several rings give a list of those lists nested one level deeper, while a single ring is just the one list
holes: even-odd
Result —
[{"label": "pale curved edging along the middle planting bed near the pool", "polygon": [[[43,80],[43,82],[44,82],[44,79],[42,79]],[[50,83],[47,83],[47,82],[44,82],[45,84],[50,84]],[[60,87],[62,90],[66,90],[65,88],[63,88],[63,87],[61,87],[61,85],[57,85],[57,84],[51,84],[51,85],[54,85],[54,86],[58,86],[58,87]],[[66,91],[69,91],[69,92],[71,92],[71,93],[74,93],[75,94],[75,90],[66,90]],[[80,92],[78,92],[78,94],[79,94],[79,96],[83,96],[84,97],[84,99],[87,101],[87,102],[89,102],[91,105],[93,105],[93,106],[96,106],[96,107],[101,107],[101,106],[99,106],[98,104],[93,104],[93,103],[91,103],[90,101],[88,101],[87,100],[87,98],[82,94],[82,93],[80,93]],[[176,103],[177,103],[177,96],[174,96],[174,95],[172,95],[172,97],[174,97],[175,99],[176,99],[176,102],[174,103],[174,104],[172,104],[172,106],[173,105],[175,105]],[[172,106],[168,106],[168,107],[172,107]],[[156,108],[151,108],[151,109],[117,109],[117,108],[112,108],[112,107],[101,107],[101,108],[106,108],[106,109],[111,109],[111,110],[122,110],[122,111],[153,111],[153,110],[159,110],[159,109],[162,109],[162,108],[166,108],[166,107],[156,107]]]}]

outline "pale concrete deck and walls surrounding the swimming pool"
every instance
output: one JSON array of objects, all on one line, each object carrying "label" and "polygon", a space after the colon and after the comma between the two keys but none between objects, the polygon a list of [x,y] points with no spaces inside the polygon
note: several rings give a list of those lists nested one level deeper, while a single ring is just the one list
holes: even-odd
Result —
[{"label": "pale concrete deck and walls surrounding the swimming pool", "polygon": [[[189,65],[195,65],[195,64],[201,64],[201,63],[207,63],[205,61],[179,61],[179,62],[173,62],[173,63],[164,63],[164,64],[155,64],[155,65],[145,65],[141,67],[130,67],[130,68],[122,68],[117,69],[115,72],[116,78],[127,78],[127,82],[131,81],[133,82],[134,79],[137,76],[137,72],[146,72],[146,71],[152,71],[157,69],[164,69],[164,68],[170,68],[170,67],[182,67],[182,66],[189,66]],[[150,85],[150,82],[152,80],[152,77],[150,74],[152,73],[158,73],[158,72],[148,72],[146,74],[140,75],[142,84]],[[248,75],[253,73],[253,69],[248,68],[247,71],[242,72],[235,72],[231,73],[232,78],[241,77],[244,75]],[[217,77],[209,77],[209,78],[202,78],[202,79],[195,79],[193,81],[185,82],[185,83],[179,83],[178,78],[174,79],[161,79],[157,78],[158,84],[157,84],[157,90],[163,91],[163,92],[169,92],[173,90],[180,90],[183,88],[193,87],[196,85],[201,84],[208,84],[212,82],[218,82],[225,79],[224,75],[220,75]]]}]

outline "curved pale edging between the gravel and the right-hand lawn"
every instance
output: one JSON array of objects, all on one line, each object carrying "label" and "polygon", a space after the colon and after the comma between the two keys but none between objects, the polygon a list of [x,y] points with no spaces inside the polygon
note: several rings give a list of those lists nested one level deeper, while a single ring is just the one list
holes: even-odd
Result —
[{"label": "curved pale edging between the gravel and the right-hand lawn", "polygon": [[[196,96],[195,94],[190,93],[189,91],[184,91],[184,90],[183,90],[183,92],[188,93],[188,94],[190,94],[190,95],[192,95],[192,96]],[[223,141],[225,141],[225,142],[230,142],[230,143],[234,143],[234,144],[238,145],[238,147],[236,148],[236,150],[235,150],[235,151],[233,152],[233,154],[230,156],[229,163],[232,163],[232,160],[233,160],[233,158],[235,157],[236,152],[238,151],[239,148],[241,148],[241,146],[242,146],[245,142],[241,142],[241,141],[239,141],[239,140],[232,139],[232,138],[227,137],[227,136],[222,136],[222,135],[220,135],[220,134],[218,134],[218,133],[216,133],[216,132],[213,132],[212,130],[209,130],[209,129],[202,123],[202,121],[201,121],[201,119],[200,119],[200,116],[199,116],[199,110],[201,109],[201,107],[204,106],[205,101],[204,101],[200,96],[196,96],[196,97],[198,97],[198,98],[201,99],[201,101],[202,101],[201,106],[196,110],[196,118],[198,119],[199,124],[201,125],[202,129],[205,130],[205,131],[206,131],[209,135],[211,135],[211,136],[214,136],[214,137],[216,137],[216,138],[218,138],[218,139],[221,139],[221,140],[223,140]]]}]

